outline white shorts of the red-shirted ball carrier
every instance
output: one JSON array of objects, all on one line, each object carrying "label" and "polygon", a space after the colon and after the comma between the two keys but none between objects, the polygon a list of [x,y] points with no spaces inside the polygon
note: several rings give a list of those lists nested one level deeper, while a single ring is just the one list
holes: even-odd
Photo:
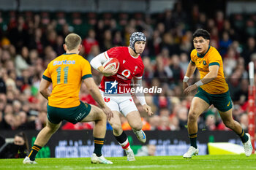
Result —
[{"label": "white shorts of the red-shirted ball carrier", "polygon": [[129,93],[115,94],[113,96],[104,96],[104,92],[100,90],[105,104],[112,110],[121,112],[127,117],[129,112],[138,111],[132,96]]}]

